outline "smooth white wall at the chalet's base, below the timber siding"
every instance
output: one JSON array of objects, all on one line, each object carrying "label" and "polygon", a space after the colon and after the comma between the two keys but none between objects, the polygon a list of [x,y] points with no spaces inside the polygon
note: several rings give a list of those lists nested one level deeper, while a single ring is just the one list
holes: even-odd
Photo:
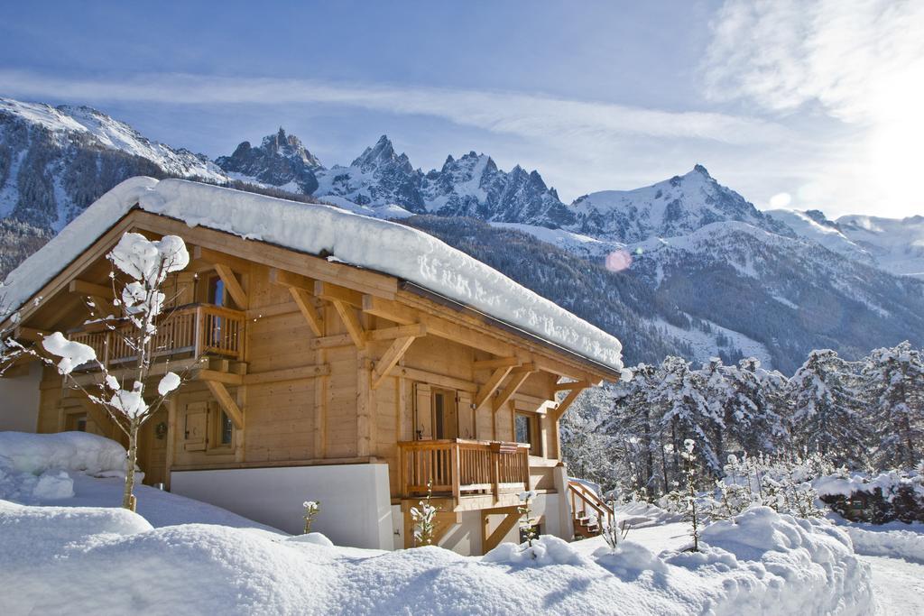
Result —
[{"label": "smooth white wall at the chalet's base, below the timber siding", "polygon": [[312,531],[338,546],[395,547],[388,465],[173,471],[170,490],[293,535],[304,529],[302,502],[320,501]]}]

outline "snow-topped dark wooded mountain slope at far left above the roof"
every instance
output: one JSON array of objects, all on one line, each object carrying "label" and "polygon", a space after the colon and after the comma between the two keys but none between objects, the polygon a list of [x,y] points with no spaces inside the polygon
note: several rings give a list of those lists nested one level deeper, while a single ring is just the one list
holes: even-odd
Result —
[{"label": "snow-topped dark wooded mountain slope at far left above the roof", "polygon": [[207,157],[146,139],[90,107],[0,99],[0,218],[59,231],[132,175],[227,180]]}]

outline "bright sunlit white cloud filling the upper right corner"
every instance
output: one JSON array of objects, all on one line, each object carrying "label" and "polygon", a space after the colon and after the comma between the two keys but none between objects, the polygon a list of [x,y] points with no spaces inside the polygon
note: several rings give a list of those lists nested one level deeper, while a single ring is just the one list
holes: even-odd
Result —
[{"label": "bright sunlit white cloud filling the upper right corner", "polygon": [[[919,0],[726,0],[702,65],[707,95],[743,100],[807,127],[845,127],[796,189],[830,210],[924,211],[924,3]],[[808,137],[808,135],[807,135]],[[865,201],[865,203],[864,203]]]}]

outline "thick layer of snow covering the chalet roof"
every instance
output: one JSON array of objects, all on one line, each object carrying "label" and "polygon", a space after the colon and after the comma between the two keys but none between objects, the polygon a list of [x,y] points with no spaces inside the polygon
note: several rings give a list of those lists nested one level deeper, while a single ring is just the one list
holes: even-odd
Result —
[{"label": "thick layer of snow covering the chalet roof", "polygon": [[418,284],[520,330],[621,370],[622,344],[586,320],[422,231],[333,206],[274,199],[187,180],[130,178],[6,277],[6,302],[18,309],[67,263],[90,248],[133,207]]}]

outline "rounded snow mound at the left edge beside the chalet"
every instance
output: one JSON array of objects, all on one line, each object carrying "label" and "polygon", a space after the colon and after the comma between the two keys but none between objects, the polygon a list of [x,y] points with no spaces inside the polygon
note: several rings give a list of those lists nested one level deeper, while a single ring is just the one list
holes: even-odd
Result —
[{"label": "rounded snow mound at the left edge beside the chalet", "polygon": [[0,471],[42,475],[63,469],[96,475],[125,472],[126,452],[116,441],[87,432],[0,432]]}]

